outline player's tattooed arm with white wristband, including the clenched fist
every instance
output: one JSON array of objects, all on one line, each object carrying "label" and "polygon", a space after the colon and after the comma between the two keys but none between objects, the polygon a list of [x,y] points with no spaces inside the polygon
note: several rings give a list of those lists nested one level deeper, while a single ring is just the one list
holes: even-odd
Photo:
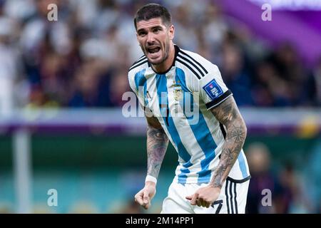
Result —
[{"label": "player's tattooed arm with white wristband, including the clenched fist", "polygon": [[[147,175],[158,177],[159,170],[168,146],[168,137],[157,118],[147,119]],[[156,194],[156,182],[146,179],[145,187],[135,195],[135,201],[145,209],[151,206],[151,199]]]}]

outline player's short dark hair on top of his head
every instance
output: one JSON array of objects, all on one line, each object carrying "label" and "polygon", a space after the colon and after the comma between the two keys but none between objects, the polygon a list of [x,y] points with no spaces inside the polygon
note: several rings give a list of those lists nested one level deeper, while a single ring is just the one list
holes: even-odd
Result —
[{"label": "player's short dark hair on top of his head", "polygon": [[163,21],[163,24],[170,26],[172,24],[172,16],[168,9],[160,4],[150,3],[138,9],[135,14],[134,24],[137,29],[138,21],[148,21],[149,19],[156,19],[160,17]]}]

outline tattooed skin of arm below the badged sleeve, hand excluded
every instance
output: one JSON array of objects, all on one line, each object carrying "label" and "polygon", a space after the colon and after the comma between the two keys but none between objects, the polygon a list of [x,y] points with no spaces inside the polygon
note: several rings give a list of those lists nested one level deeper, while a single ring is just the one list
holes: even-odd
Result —
[{"label": "tattooed skin of arm below the badged sleeve, hand excluded", "polygon": [[228,173],[232,169],[242,150],[247,129],[232,96],[211,111],[215,115],[215,118],[225,125],[227,129],[220,162],[218,163],[218,167],[214,171],[211,180],[211,184],[214,187],[222,187],[223,182],[228,177]]}]

